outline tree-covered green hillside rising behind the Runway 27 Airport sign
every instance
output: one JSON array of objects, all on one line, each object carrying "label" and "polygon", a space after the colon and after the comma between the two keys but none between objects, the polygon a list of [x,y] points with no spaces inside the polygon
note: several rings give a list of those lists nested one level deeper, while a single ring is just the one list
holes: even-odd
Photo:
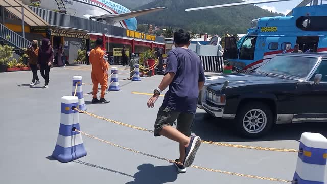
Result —
[{"label": "tree-covered green hillside rising behind the Runway 27 Airport sign", "polygon": [[[238,0],[237,2],[241,2]],[[235,3],[226,0],[225,3]],[[259,17],[281,16],[254,5],[244,5],[226,8],[215,8],[202,11],[185,12],[186,8],[217,5],[217,0],[155,0],[135,10],[167,7],[167,10],[137,17],[138,22],[169,26],[173,29],[193,30],[196,33],[218,34],[222,36],[226,30],[229,34],[246,33],[251,26],[251,20]]]}]

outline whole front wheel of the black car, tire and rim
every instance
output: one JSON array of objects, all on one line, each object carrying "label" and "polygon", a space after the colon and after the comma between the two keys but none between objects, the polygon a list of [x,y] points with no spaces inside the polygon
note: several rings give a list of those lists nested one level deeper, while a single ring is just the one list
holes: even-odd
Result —
[{"label": "whole front wheel of the black car, tire and rim", "polygon": [[236,128],[243,137],[259,138],[273,126],[273,113],[264,103],[253,102],[242,105],[236,115]]}]

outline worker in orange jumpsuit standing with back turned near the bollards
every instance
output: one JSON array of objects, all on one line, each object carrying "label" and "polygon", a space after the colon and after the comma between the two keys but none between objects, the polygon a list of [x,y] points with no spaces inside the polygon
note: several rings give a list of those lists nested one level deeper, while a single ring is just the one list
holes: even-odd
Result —
[{"label": "worker in orange jumpsuit standing with back turned near the bollards", "polygon": [[[107,101],[104,98],[105,91],[108,85],[108,64],[105,60],[104,52],[101,49],[103,45],[103,40],[101,38],[98,38],[96,40],[96,48],[92,49],[90,52],[90,63],[92,64],[92,82],[93,82],[93,100],[92,103],[110,103],[110,101]],[[97,98],[98,93],[98,84],[101,85],[101,97],[100,100]]]}]

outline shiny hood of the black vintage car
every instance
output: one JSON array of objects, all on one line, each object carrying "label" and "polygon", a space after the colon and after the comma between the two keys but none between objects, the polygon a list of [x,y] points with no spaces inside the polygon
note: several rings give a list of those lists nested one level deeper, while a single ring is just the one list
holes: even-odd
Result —
[{"label": "shiny hood of the black vintage car", "polygon": [[205,82],[210,84],[208,89],[220,90],[225,81],[229,81],[229,87],[238,87],[244,85],[260,85],[260,84],[276,84],[276,83],[296,83],[297,81],[281,78],[276,76],[266,76],[255,73],[240,74],[223,74],[223,75],[207,75]]}]

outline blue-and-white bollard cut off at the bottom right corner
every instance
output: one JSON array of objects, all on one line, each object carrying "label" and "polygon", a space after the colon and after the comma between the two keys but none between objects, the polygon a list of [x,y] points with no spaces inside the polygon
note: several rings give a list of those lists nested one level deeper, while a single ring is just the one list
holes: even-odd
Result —
[{"label": "blue-and-white bollard cut off at the bottom right corner", "polygon": [[323,184],[326,175],[327,139],[320,133],[303,133],[293,181]]}]

